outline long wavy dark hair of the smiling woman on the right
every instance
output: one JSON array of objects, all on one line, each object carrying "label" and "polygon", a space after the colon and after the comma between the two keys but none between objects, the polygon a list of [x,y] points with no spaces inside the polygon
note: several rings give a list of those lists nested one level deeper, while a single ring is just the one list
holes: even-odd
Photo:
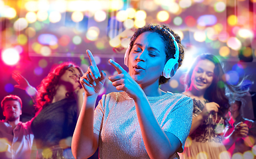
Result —
[{"label": "long wavy dark hair of the smiling woman on the right", "polygon": [[229,110],[230,103],[229,98],[227,97],[227,95],[225,95],[225,91],[226,89],[228,89],[228,91],[232,93],[243,93],[243,91],[239,90],[239,85],[231,85],[227,83],[222,63],[216,56],[212,54],[201,54],[196,58],[194,64],[192,64],[192,67],[186,74],[186,89],[188,89],[191,85],[191,77],[193,74],[193,70],[200,60],[210,60],[215,65],[214,79],[210,87],[206,89],[206,92],[204,93],[204,98],[210,102],[215,102],[218,103],[218,105],[220,105],[218,115],[220,115],[225,120],[225,124],[227,124],[227,119],[225,118],[225,115]]}]

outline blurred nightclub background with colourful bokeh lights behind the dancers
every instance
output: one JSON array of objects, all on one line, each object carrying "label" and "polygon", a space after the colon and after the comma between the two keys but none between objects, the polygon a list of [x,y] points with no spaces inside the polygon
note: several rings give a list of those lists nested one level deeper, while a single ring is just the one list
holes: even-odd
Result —
[{"label": "blurred nightclub background with colourful bokeh lights behind the dancers", "polygon": [[[32,99],[14,87],[13,72],[37,87],[62,62],[74,62],[86,72],[90,49],[99,70],[116,74],[107,60],[127,70],[123,56],[129,39],[149,23],[171,26],[185,48],[182,67],[160,86],[164,91],[184,91],[183,79],[194,58],[207,52],[224,62],[228,83],[237,84],[245,76],[256,81],[256,0],[0,0],[0,99],[19,95],[21,121],[29,121],[34,116]],[[107,79],[101,95],[111,91],[117,90]],[[251,85],[251,93],[255,91]],[[255,96],[243,111],[249,119],[255,119]],[[2,111],[0,115],[4,119]]]}]

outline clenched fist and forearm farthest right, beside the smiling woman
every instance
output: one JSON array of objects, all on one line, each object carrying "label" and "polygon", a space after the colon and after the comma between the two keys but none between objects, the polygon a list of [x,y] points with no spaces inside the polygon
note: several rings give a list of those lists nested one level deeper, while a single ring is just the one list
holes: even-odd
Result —
[{"label": "clenched fist and forearm farthest right, beside the smiling woman", "polygon": [[246,137],[248,131],[248,126],[243,122],[235,125],[235,129],[233,130],[233,132],[229,136],[222,138],[222,142],[225,148],[228,150],[235,143],[235,140],[237,140],[237,138]]}]

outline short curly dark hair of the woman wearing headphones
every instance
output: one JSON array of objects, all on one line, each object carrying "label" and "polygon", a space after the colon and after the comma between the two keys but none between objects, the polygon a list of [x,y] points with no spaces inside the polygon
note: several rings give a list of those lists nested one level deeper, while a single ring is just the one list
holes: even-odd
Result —
[{"label": "short curly dark hair of the woman wearing headphones", "polygon": [[[182,65],[182,61],[184,59],[184,48],[181,44],[180,36],[178,36],[178,34],[176,34],[167,25],[149,24],[149,25],[143,26],[142,28],[139,28],[131,37],[129,53],[131,52],[131,49],[133,48],[133,44],[134,44],[135,40],[138,38],[138,36],[140,34],[142,34],[143,32],[157,32],[157,34],[160,35],[160,38],[162,38],[162,42],[164,43],[164,46],[165,46],[165,55],[166,55],[165,63],[166,63],[170,58],[174,58],[174,54],[176,52],[174,40],[172,39],[172,36],[170,35],[170,33],[166,30],[168,30],[170,33],[172,33],[172,35],[175,37],[176,42],[178,43],[178,48],[180,51],[179,58],[178,58],[178,68],[180,68],[180,66]],[[159,85],[166,83],[169,79],[170,78],[167,79],[167,78],[164,78],[164,76],[161,76],[159,79]]]}]

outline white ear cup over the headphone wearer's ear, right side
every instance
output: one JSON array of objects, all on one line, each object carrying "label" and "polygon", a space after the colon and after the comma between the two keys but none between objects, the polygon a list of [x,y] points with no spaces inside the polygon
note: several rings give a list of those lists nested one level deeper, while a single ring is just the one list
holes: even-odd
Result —
[{"label": "white ear cup over the headphone wearer's ear, right side", "polygon": [[172,76],[174,76],[174,74],[176,74],[177,69],[178,69],[177,60],[174,58],[170,58],[164,65],[162,76],[164,76],[164,78],[171,78]]}]

